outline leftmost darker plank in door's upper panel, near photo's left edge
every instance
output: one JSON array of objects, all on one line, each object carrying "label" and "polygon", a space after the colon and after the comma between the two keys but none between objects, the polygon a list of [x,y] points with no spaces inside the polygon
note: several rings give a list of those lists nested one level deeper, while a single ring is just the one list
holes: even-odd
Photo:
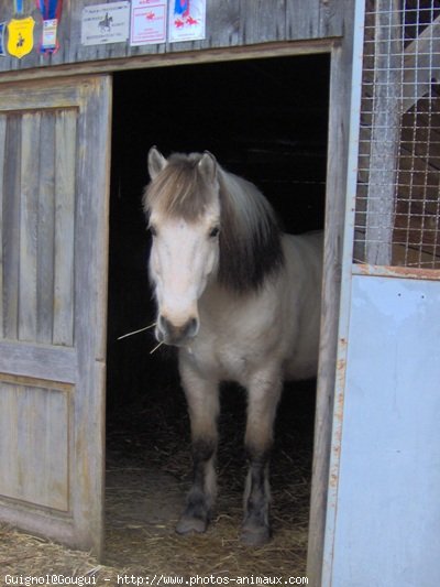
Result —
[{"label": "leftmost darker plank in door's upper panel, near photo's left edge", "polygon": [[8,116],[3,183],[3,336],[18,338],[21,117]]}]

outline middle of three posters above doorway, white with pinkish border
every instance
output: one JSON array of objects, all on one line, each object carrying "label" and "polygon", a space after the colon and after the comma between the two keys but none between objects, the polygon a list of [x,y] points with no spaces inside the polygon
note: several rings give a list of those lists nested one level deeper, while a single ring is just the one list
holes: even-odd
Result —
[{"label": "middle of three posters above doorway, white with pinkish border", "polygon": [[168,0],[132,0],[131,45],[166,42]]}]

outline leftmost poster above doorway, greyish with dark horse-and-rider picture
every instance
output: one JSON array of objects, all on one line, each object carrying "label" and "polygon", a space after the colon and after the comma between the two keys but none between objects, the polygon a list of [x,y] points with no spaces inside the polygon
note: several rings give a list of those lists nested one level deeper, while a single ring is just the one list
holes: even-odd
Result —
[{"label": "leftmost poster above doorway, greyish with dark horse-and-rider picture", "polygon": [[130,2],[110,2],[82,9],[82,45],[125,43],[129,39]]}]

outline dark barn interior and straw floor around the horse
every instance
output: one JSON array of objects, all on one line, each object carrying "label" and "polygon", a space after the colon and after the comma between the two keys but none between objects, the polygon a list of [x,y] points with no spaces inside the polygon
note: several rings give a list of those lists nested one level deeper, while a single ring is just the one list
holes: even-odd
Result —
[{"label": "dark barn interior and straw floor around the horse", "polygon": [[[142,213],[146,154],[208,150],[255,183],[283,228],[322,228],[330,58],[326,54],[123,72],[113,79],[107,390],[109,564],[188,574],[305,572],[315,382],[288,385],[272,464],[274,539],[240,545],[245,394],[222,390],[220,497],[205,536],[177,537],[190,481],[189,423],[173,349],[155,347]],[[287,387],[286,387],[287,388]]]}]

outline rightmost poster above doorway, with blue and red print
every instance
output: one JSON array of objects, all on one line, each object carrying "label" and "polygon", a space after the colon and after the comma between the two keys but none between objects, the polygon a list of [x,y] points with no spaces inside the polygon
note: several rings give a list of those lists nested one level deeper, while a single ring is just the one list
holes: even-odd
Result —
[{"label": "rightmost poster above doorway, with blue and red print", "polygon": [[168,41],[205,39],[206,0],[169,0]]}]

